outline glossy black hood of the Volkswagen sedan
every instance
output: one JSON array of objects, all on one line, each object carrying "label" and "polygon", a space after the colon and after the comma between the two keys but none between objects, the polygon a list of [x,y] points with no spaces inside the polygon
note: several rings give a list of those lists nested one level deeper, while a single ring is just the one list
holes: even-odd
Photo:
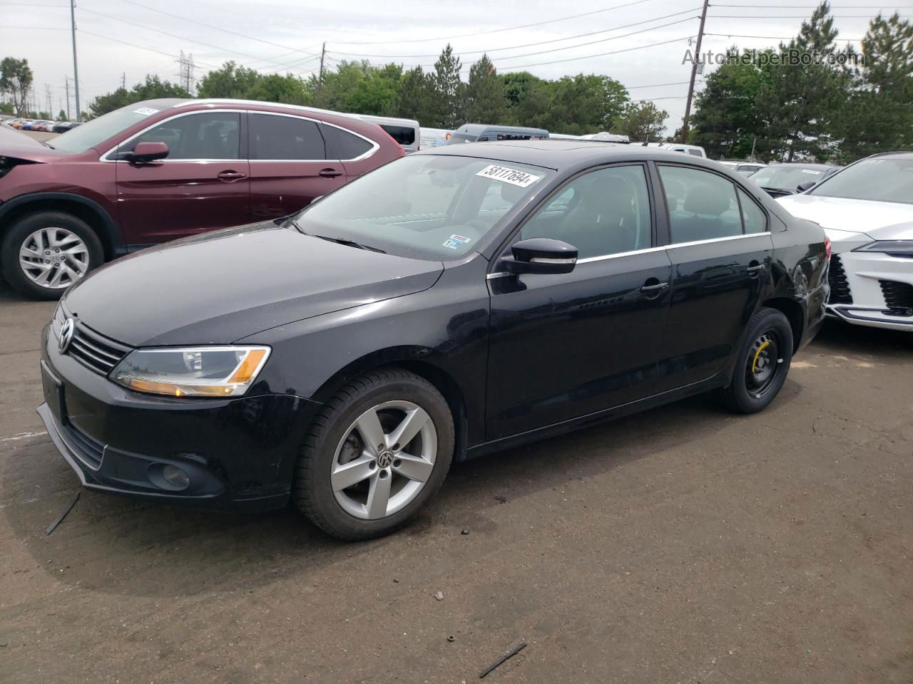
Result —
[{"label": "glossy black hood of the Volkswagen sedan", "polygon": [[310,316],[420,292],[443,268],[257,223],[131,254],[74,285],[64,306],[85,325],[133,347],[229,344]]}]

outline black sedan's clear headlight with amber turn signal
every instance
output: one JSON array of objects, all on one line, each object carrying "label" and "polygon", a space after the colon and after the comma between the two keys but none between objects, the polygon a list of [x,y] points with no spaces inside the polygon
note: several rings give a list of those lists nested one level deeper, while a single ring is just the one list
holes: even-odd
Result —
[{"label": "black sedan's clear headlight with amber turn signal", "polygon": [[119,385],[170,397],[244,394],[269,357],[269,347],[163,347],[131,351],[111,371]]}]

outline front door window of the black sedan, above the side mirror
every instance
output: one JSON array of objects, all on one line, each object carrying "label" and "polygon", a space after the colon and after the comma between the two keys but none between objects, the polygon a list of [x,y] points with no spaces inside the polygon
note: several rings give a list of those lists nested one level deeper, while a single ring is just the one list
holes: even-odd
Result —
[{"label": "front door window of the black sedan, above the side mirror", "polygon": [[644,167],[613,166],[571,181],[523,226],[520,239],[530,237],[572,244],[581,259],[649,247],[652,232]]}]

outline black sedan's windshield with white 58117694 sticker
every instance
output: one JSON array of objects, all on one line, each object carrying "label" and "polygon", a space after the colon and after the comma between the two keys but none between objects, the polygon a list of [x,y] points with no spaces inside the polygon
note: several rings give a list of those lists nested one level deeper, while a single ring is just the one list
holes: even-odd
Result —
[{"label": "black sedan's windshield with white 58117694 sticker", "polygon": [[554,171],[509,161],[413,155],[314,202],[304,233],[414,259],[446,261],[479,242]]}]

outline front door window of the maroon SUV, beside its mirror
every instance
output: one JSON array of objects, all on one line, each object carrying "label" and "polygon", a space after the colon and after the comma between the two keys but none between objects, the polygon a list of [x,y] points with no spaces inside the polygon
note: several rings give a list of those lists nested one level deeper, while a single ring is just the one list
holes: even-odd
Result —
[{"label": "front door window of the maroon SUV, beside its mirror", "polygon": [[120,151],[132,151],[140,142],[164,142],[169,160],[238,159],[241,115],[233,112],[201,112],[164,121],[147,130]]}]

